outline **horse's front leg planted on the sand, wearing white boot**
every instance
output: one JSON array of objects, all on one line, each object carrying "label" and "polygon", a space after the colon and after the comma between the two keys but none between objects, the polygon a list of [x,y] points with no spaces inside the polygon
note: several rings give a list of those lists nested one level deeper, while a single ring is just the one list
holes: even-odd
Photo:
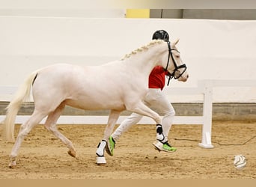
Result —
[{"label": "horse's front leg planted on the sand, wearing white boot", "polygon": [[115,123],[117,122],[118,117],[120,116],[120,114],[121,114],[121,111],[115,111],[115,110],[110,111],[109,120],[108,120],[108,124],[106,126],[106,129],[105,129],[105,132],[104,132],[103,140],[100,141],[100,143],[97,147],[97,150],[96,150],[96,155],[97,155],[96,163],[97,163],[97,165],[106,164],[106,159],[105,159],[105,156],[104,156],[104,150],[105,150],[105,147],[107,145],[107,141],[109,139],[109,136],[113,132]]}]

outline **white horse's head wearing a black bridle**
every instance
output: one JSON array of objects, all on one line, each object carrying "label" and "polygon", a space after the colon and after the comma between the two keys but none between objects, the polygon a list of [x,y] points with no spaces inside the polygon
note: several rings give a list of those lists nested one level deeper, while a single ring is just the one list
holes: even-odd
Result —
[{"label": "white horse's head wearing a black bridle", "polygon": [[170,79],[174,78],[178,81],[186,82],[189,78],[189,73],[187,73],[186,64],[183,64],[180,58],[180,52],[177,50],[176,44],[178,42],[179,40],[176,40],[174,43],[167,42],[168,61],[165,70],[168,70]]}]

